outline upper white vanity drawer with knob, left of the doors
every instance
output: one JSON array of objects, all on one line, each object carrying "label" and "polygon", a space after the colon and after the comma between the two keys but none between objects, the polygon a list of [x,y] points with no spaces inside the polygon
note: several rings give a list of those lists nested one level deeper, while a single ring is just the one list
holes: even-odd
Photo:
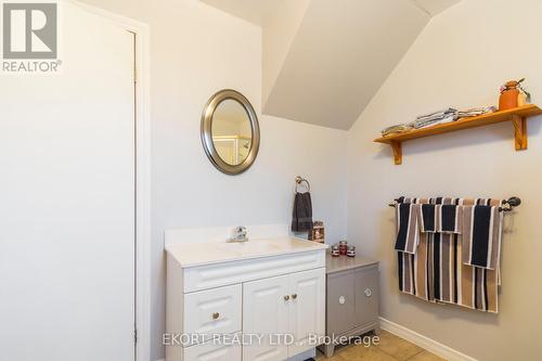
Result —
[{"label": "upper white vanity drawer with knob, left of the doors", "polygon": [[183,333],[206,335],[241,331],[242,285],[233,285],[184,295]]}]

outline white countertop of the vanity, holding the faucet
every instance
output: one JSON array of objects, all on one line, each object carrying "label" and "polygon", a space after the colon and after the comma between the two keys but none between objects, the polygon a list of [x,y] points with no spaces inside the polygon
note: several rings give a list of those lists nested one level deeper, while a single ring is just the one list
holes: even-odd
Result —
[{"label": "white countertop of the vanity, holding the faucet", "polygon": [[326,249],[322,243],[295,238],[276,237],[249,240],[244,243],[176,243],[166,245],[166,252],[183,268],[253,259],[287,254]]}]

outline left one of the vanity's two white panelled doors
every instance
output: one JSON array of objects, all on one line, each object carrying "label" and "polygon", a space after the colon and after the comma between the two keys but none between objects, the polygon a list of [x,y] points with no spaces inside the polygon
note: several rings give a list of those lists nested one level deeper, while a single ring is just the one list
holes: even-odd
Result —
[{"label": "left one of the vanity's two white panelled doors", "polygon": [[[243,333],[259,334],[243,347],[244,361],[276,361],[288,357],[287,346],[273,337],[288,330],[289,275],[243,284]],[[245,339],[247,341],[247,339]]]}]

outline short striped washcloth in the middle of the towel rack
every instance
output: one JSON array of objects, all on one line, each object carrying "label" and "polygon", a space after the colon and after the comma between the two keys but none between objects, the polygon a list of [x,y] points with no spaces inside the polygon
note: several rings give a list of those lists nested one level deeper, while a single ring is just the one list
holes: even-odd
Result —
[{"label": "short striped washcloth in the middle of the towel rack", "polygon": [[420,229],[422,232],[461,233],[463,207],[453,204],[424,204]]}]

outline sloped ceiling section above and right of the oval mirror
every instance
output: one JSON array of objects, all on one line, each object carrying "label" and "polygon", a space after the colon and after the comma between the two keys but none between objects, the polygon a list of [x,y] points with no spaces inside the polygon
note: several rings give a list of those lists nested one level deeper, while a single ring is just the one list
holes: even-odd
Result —
[{"label": "sloped ceiling section above and right of the oval mirror", "polygon": [[460,0],[202,0],[262,27],[263,113],[349,129],[430,16]]}]

